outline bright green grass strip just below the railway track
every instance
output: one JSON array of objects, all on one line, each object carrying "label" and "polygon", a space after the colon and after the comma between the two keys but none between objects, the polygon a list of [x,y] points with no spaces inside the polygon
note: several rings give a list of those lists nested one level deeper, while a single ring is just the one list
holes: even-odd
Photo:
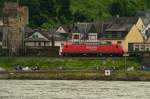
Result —
[{"label": "bright green grass strip just below the railway track", "polygon": [[[124,69],[124,58],[51,58],[51,57],[0,57],[0,67],[11,70],[14,66],[39,66],[41,69],[58,69],[63,67],[72,70],[91,70],[96,67],[112,67]],[[140,66],[137,58],[128,58],[127,66]]]}]

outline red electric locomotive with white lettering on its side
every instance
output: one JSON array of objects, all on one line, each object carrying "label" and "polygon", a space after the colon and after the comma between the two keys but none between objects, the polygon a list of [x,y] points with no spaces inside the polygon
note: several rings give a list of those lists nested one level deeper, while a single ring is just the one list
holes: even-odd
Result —
[{"label": "red electric locomotive with white lettering on its side", "polygon": [[122,56],[123,53],[117,44],[65,43],[61,51],[63,56]]}]

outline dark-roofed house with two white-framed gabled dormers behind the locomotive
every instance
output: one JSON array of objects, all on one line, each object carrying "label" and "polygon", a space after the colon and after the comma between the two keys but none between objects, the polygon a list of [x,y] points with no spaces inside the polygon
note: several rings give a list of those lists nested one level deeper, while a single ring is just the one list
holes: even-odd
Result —
[{"label": "dark-roofed house with two white-framed gabled dormers behind the locomotive", "polygon": [[72,42],[97,43],[98,31],[94,23],[77,23],[72,29]]}]

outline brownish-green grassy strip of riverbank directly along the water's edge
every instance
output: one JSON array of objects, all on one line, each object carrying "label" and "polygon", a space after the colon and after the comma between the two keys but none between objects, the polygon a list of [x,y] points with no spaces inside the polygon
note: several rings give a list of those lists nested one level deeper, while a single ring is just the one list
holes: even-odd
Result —
[{"label": "brownish-green grassy strip of riverbank directly along the water's edge", "polygon": [[98,71],[39,71],[1,72],[0,79],[10,80],[102,80],[102,81],[150,81],[150,72],[113,72],[105,76]]}]

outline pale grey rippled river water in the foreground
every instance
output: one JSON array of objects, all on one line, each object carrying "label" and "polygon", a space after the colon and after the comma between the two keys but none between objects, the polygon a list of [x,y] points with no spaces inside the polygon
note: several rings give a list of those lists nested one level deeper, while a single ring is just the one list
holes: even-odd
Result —
[{"label": "pale grey rippled river water in the foreground", "polygon": [[150,99],[150,82],[0,80],[0,99]]}]

